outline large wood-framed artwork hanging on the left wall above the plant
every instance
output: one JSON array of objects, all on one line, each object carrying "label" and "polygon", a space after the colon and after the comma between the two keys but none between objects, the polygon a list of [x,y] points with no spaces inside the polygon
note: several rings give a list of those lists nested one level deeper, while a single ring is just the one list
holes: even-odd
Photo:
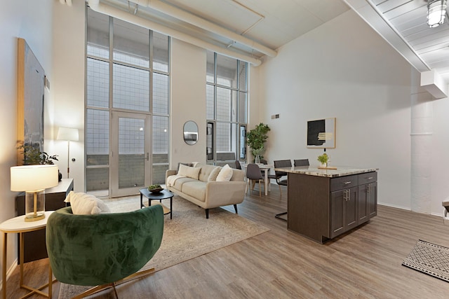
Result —
[{"label": "large wood-framed artwork hanging on the left wall above the plant", "polygon": [[[39,147],[43,151],[43,97],[45,71],[25,39],[18,39],[18,146]],[[23,164],[23,148],[18,148],[17,164]]]}]

